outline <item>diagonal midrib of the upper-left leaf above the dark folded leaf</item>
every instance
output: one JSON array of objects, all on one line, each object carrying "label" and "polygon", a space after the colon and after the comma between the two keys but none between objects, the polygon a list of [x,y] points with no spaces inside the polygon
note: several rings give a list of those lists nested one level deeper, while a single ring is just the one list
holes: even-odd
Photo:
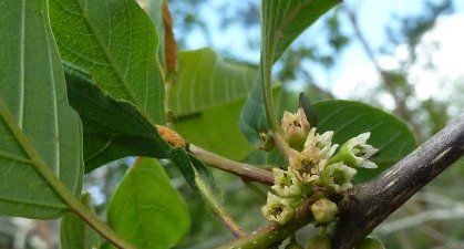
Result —
[{"label": "diagonal midrib of the upper-left leaf above the dark folded leaf", "polygon": [[[56,0],[59,1],[59,0]],[[124,85],[124,90],[126,91],[126,93],[128,94],[128,96],[131,97],[131,100],[127,101],[132,101],[134,102],[136,105],[140,105],[141,103],[137,101],[137,98],[135,97],[134,93],[131,91],[131,89],[127,86],[127,82],[124,81],[124,76],[122,75],[122,72],[120,71],[121,69],[115,64],[113,58],[111,56],[110,51],[107,50],[107,48],[105,46],[104,42],[102,41],[102,39],[100,38],[100,35],[96,35],[96,31],[95,28],[93,27],[93,24],[91,23],[91,21],[89,20],[89,18],[86,17],[82,7],[82,4],[80,3],[80,1],[76,1],[78,6],[81,10],[81,15],[82,18],[85,20],[85,24],[89,27],[89,29],[92,31],[93,37],[95,38],[96,42],[99,43],[100,49],[103,51],[103,54],[105,55],[106,60],[110,62],[110,65],[114,69],[114,72],[117,76],[117,80],[120,80],[120,82],[122,83],[122,85]],[[131,11],[128,11],[131,12]],[[131,14],[131,13],[130,13]],[[132,21],[132,19],[130,19]],[[130,32],[132,32],[132,29],[130,30]],[[110,44],[111,44],[111,32],[110,32]],[[131,46],[128,46],[128,50],[131,50]],[[127,66],[126,66],[127,68]],[[142,106],[146,106],[146,105],[142,105]],[[147,113],[145,112],[145,110],[141,110],[142,112],[144,112],[144,114],[146,115]]]}]

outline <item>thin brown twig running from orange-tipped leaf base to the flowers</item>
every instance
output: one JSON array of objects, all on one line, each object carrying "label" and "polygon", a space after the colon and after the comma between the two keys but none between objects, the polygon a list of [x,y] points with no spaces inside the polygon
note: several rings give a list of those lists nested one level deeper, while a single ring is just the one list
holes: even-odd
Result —
[{"label": "thin brown twig running from orange-tipped leaf base to the flowers", "polygon": [[221,157],[194,144],[188,145],[188,152],[214,168],[231,173],[249,181],[274,185],[272,174],[268,170]]}]

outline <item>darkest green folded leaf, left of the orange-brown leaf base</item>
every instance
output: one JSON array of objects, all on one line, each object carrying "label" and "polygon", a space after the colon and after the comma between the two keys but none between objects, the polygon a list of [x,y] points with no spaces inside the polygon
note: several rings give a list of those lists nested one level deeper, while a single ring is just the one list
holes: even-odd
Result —
[{"label": "darkest green folded leaf, left of the orange-brown leaf base", "polygon": [[125,156],[167,157],[169,145],[126,101],[115,101],[80,68],[64,62],[68,96],[84,126],[85,172]]}]

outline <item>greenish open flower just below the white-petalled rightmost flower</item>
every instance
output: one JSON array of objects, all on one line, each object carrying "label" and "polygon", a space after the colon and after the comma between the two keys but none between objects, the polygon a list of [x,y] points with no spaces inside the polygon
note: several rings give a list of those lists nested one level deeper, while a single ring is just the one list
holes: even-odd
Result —
[{"label": "greenish open flower just below the white-petalled rightmost flower", "polygon": [[357,169],[348,167],[342,162],[338,162],[323,169],[319,178],[319,184],[334,191],[343,191],[353,187],[351,180],[355,174]]}]

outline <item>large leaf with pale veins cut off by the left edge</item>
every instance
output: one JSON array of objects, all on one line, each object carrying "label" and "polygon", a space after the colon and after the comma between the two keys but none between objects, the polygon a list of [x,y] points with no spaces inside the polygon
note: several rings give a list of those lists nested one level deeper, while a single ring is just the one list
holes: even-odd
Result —
[{"label": "large leaf with pale veins cut off by the left edge", "polygon": [[82,187],[82,131],[66,100],[45,0],[0,1],[0,214],[54,218],[49,184]]}]

